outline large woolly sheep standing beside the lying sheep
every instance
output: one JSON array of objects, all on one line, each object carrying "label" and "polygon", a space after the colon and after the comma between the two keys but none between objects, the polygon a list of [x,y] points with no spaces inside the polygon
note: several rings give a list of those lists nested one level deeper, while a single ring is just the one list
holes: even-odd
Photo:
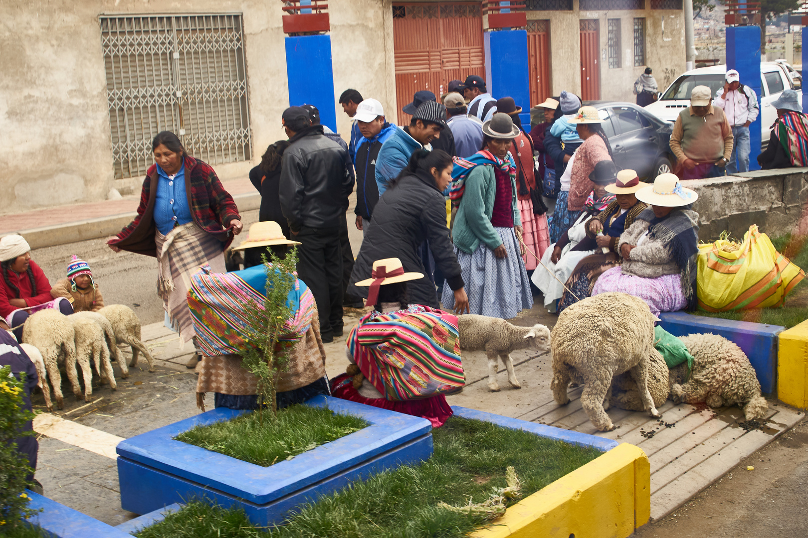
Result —
[{"label": "large woolly sheep standing beside the lying sheep", "polygon": [[570,402],[567,387],[577,370],[584,382],[583,411],[601,432],[613,430],[604,399],[612,377],[628,371],[637,383],[642,408],[659,418],[648,390],[655,319],[646,302],[629,294],[599,294],[567,307],[558,316],[552,333],[550,388],[555,401],[559,405]]}]

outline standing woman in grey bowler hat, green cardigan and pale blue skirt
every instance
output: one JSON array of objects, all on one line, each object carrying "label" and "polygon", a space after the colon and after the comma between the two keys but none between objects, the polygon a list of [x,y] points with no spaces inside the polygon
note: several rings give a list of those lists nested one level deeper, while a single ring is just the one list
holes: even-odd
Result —
[{"label": "standing woman in grey bowler hat, green cardigan and pale blue skirt", "polygon": [[[459,206],[452,240],[471,314],[510,319],[533,306],[519,242],[516,166],[508,153],[519,133],[511,116],[497,112],[482,124],[482,149],[455,159],[449,198]],[[454,305],[446,288],[443,302]]]}]

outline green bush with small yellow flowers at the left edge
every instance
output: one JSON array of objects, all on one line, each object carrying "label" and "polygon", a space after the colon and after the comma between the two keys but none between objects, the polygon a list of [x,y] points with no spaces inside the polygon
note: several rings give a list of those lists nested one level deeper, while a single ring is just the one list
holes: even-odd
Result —
[{"label": "green bush with small yellow flowers at the left edge", "polygon": [[28,458],[17,452],[15,439],[32,436],[23,431],[33,413],[23,407],[25,374],[19,381],[11,366],[0,367],[0,535],[22,532],[27,526],[23,519],[36,514],[28,508],[30,498],[25,493],[27,477],[33,473]]}]

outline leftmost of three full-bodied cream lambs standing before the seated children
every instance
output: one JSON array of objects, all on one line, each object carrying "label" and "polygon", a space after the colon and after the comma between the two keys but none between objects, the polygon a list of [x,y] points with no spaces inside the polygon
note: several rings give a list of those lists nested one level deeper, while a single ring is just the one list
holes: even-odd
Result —
[{"label": "leftmost of three full-bodied cream lambs standing before the seated children", "polygon": [[[65,407],[61,394],[61,373],[59,359],[65,362],[67,377],[71,384],[78,385],[76,373],[76,342],[73,323],[61,312],[48,308],[35,312],[25,320],[23,342],[32,344],[42,353],[45,369],[48,370],[53,396],[59,409]],[[71,369],[72,365],[72,369]]]}]

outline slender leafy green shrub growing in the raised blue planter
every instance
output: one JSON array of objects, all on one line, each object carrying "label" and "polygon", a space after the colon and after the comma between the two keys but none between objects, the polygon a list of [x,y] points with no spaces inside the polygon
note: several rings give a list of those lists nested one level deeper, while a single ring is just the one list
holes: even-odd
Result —
[{"label": "slender leafy green shrub growing in the raised blue planter", "polygon": [[297,248],[292,248],[284,258],[270,252],[271,261],[262,255],[267,273],[266,298],[263,305],[245,304],[250,327],[244,336],[250,346],[242,353],[242,366],[258,379],[259,420],[263,423],[265,405],[272,411],[272,419],[278,415],[276,387],[280,374],[288,367],[289,352],[295,341],[288,337],[284,324],[294,312],[288,304],[288,294],[297,285]]}]

